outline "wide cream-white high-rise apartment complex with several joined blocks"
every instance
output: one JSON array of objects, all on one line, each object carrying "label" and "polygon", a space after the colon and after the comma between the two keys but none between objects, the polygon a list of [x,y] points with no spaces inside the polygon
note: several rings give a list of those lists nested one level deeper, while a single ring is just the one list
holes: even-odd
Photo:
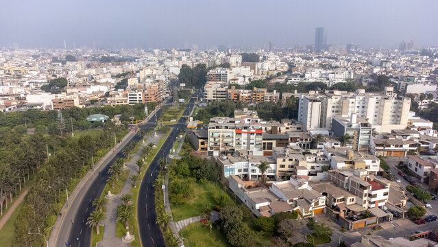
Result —
[{"label": "wide cream-white high-rise apartment complex with several joined blocks", "polygon": [[320,94],[311,91],[300,95],[298,121],[304,131],[330,130],[332,117],[350,117],[355,113],[367,119],[377,132],[391,132],[392,129],[406,128],[409,119],[411,98],[399,97],[392,87],[386,87],[384,94],[332,91]]}]

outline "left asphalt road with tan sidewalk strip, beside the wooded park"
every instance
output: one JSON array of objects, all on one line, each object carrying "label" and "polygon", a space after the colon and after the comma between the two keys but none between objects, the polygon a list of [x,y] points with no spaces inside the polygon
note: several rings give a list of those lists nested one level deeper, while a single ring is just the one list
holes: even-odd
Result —
[{"label": "left asphalt road with tan sidewalk strip, beside the wooded park", "polygon": [[[160,115],[161,109],[157,110],[157,117]],[[147,130],[149,127],[155,127],[155,117],[142,124],[140,127]],[[55,246],[65,246],[65,242],[71,242],[71,246],[90,246],[91,244],[91,228],[86,226],[86,219],[93,212],[93,200],[99,198],[102,191],[104,191],[106,180],[109,177],[108,169],[117,158],[122,157],[121,150],[128,143],[132,141],[140,141],[141,135],[136,134],[129,140],[125,140],[114,152],[110,158],[108,158],[104,164],[102,164],[97,172],[95,172],[90,179],[85,183],[77,193],[77,197],[72,200],[67,211],[64,222],[60,229],[60,233],[56,239]],[[79,241],[77,241],[79,238]]]}]

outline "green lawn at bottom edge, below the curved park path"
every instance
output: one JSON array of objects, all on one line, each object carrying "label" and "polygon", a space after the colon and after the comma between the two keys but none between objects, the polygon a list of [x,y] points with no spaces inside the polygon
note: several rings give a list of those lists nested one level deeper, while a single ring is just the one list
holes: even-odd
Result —
[{"label": "green lawn at bottom edge, below the curved park path", "polygon": [[212,227],[210,234],[210,226],[206,226],[201,222],[195,222],[184,227],[180,231],[184,237],[184,246],[188,247],[226,247],[227,240],[218,226]]}]

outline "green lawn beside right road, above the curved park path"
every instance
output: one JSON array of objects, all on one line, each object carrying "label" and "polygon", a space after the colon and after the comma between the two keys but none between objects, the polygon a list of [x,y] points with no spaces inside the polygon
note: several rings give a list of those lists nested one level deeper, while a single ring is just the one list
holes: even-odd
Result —
[{"label": "green lawn beside right road, above the curved park path", "polygon": [[[189,180],[189,178],[181,178],[182,180]],[[169,181],[169,183],[171,183]],[[171,211],[173,215],[173,220],[178,222],[179,220],[184,220],[188,217],[201,215],[204,209],[208,207],[210,210],[215,207],[215,199],[213,195],[215,193],[228,194],[223,191],[222,185],[219,183],[213,183],[207,181],[206,183],[192,182],[193,196],[188,200],[188,202],[182,204],[174,204],[171,201]],[[229,197],[229,196],[228,196]],[[233,201],[229,200],[230,203]]]}]

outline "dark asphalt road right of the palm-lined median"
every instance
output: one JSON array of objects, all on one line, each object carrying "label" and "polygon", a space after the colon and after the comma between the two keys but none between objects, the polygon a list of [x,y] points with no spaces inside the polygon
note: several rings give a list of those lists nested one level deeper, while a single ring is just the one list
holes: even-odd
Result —
[{"label": "dark asphalt road right of the palm-lined median", "polygon": [[[183,115],[189,115],[194,107],[195,99],[191,99],[184,110]],[[137,217],[138,231],[140,232],[141,245],[145,246],[165,246],[160,226],[156,224],[154,180],[158,176],[158,160],[167,158],[173,143],[183,128],[186,128],[186,117],[181,117],[178,123],[173,125],[173,130],[163,143],[161,150],[149,165],[138,191]]]}]

